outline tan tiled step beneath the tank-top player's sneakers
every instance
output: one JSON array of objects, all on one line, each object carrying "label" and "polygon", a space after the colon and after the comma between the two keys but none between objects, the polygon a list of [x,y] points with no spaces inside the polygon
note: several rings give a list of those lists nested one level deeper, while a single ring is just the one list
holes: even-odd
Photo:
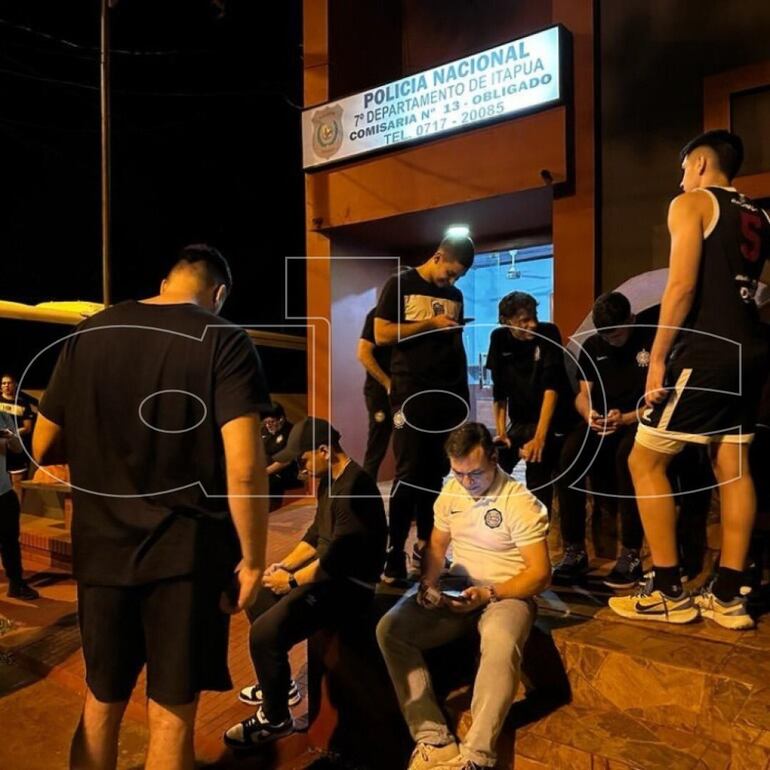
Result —
[{"label": "tan tiled step beneath the tank-top player's sneakers", "polygon": [[620,618],[597,594],[548,592],[538,625],[564,666],[572,703],[724,744],[770,746],[770,625],[735,632]]}]

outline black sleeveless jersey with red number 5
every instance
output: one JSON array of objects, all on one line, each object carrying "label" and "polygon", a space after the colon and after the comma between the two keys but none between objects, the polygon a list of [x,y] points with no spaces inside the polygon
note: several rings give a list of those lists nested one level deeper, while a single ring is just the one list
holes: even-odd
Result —
[{"label": "black sleeveless jersey with red number 5", "polygon": [[[672,359],[694,365],[744,363],[763,357],[754,295],[765,260],[770,258],[770,219],[734,188],[705,188],[716,201],[714,219],[704,233],[692,308],[672,349]],[[739,343],[741,348],[735,343]]]}]

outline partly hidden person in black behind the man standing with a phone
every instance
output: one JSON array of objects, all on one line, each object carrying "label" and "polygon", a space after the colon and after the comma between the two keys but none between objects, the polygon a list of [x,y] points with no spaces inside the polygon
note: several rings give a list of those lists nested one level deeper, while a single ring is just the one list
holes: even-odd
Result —
[{"label": "partly hidden person in black behind the man standing with a phone", "polygon": [[392,348],[374,341],[374,313],[366,314],[358,340],[356,356],[366,370],[364,400],[369,415],[369,430],[364,452],[364,470],[377,481],[380,465],[388,451],[393,422],[390,418],[390,355]]}]

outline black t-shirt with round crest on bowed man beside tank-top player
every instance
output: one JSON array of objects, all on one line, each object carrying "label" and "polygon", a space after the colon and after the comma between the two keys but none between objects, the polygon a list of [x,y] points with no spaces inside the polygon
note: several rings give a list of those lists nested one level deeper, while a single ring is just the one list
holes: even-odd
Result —
[{"label": "black t-shirt with round crest on bowed man beside tank-top player", "polygon": [[[598,334],[591,335],[583,343],[577,378],[593,383],[591,399],[599,414],[607,414],[611,409],[632,412],[639,406],[647,384],[654,339],[654,328],[637,326],[622,347],[613,347]],[[600,383],[604,387],[606,403]]]}]

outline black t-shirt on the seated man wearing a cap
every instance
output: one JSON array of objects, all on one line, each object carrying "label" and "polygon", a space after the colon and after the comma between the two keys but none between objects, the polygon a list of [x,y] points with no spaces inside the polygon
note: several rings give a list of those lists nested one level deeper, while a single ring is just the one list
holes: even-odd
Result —
[{"label": "black t-shirt on the seated man wearing a cap", "polygon": [[361,466],[351,461],[332,482],[331,493],[329,478],[321,480],[315,519],[302,539],[316,549],[327,575],[374,585],[387,537],[382,496]]}]

